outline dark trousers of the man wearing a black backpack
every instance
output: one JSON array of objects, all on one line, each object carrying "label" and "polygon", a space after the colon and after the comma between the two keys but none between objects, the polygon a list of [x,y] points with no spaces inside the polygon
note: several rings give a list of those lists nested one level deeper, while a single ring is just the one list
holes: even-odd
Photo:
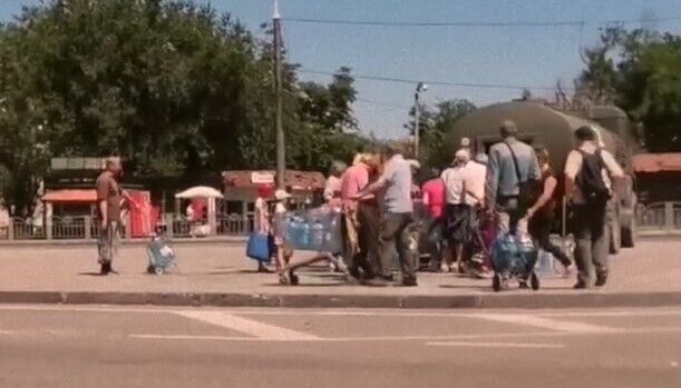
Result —
[{"label": "dark trousers of the man wearing a black backpack", "polygon": [[607,275],[610,235],[606,223],[606,205],[576,205],[573,208],[572,227],[575,236],[575,262],[580,280],[590,285],[591,279]]}]

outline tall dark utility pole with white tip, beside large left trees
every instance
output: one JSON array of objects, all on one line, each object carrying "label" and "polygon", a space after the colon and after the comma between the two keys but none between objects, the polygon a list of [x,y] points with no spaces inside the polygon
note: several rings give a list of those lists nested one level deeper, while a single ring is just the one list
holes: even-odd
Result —
[{"label": "tall dark utility pole with white tip, beside large left trees", "polygon": [[284,139],[284,128],[282,122],[283,115],[283,93],[281,83],[281,14],[279,13],[279,0],[274,0],[274,13],[272,14],[272,24],[274,27],[274,93],[276,94],[276,113],[275,113],[275,130],[276,130],[276,187],[286,189],[285,172],[286,172],[286,142]]}]

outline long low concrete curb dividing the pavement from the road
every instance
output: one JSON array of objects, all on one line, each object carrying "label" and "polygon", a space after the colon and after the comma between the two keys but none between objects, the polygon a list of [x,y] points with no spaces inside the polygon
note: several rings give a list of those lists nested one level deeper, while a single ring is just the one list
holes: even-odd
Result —
[{"label": "long low concrete curb dividing the pavement from the road", "polygon": [[570,309],[681,306],[681,291],[458,296],[0,291],[0,304],[398,309]]}]

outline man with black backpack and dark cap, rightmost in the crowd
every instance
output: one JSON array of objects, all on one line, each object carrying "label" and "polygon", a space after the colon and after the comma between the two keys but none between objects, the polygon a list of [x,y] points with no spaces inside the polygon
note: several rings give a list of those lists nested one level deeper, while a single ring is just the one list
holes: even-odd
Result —
[{"label": "man with black backpack and dark cap, rightmost in the crowd", "polygon": [[565,162],[565,195],[572,201],[573,233],[577,283],[575,289],[605,286],[607,280],[607,202],[612,198],[612,179],[624,176],[615,158],[599,142],[591,126],[575,132],[576,148]]}]

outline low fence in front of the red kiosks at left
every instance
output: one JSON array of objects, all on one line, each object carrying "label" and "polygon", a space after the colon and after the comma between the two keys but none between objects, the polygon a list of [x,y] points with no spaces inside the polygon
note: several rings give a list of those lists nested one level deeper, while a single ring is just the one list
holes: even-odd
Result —
[{"label": "low fence in front of the red kiosks at left", "polygon": [[[130,230],[124,221],[120,228],[121,238],[132,238]],[[96,239],[99,236],[99,222],[91,217],[55,217],[51,226],[33,222],[30,219],[13,218],[6,225],[0,225],[0,241],[29,240],[82,240]],[[186,219],[167,217],[158,222],[156,230],[174,238],[202,237],[210,235],[206,226],[191,222]],[[246,236],[253,230],[253,217],[242,215],[218,216],[215,227],[216,236]],[[144,237],[140,237],[144,238]]]}]

